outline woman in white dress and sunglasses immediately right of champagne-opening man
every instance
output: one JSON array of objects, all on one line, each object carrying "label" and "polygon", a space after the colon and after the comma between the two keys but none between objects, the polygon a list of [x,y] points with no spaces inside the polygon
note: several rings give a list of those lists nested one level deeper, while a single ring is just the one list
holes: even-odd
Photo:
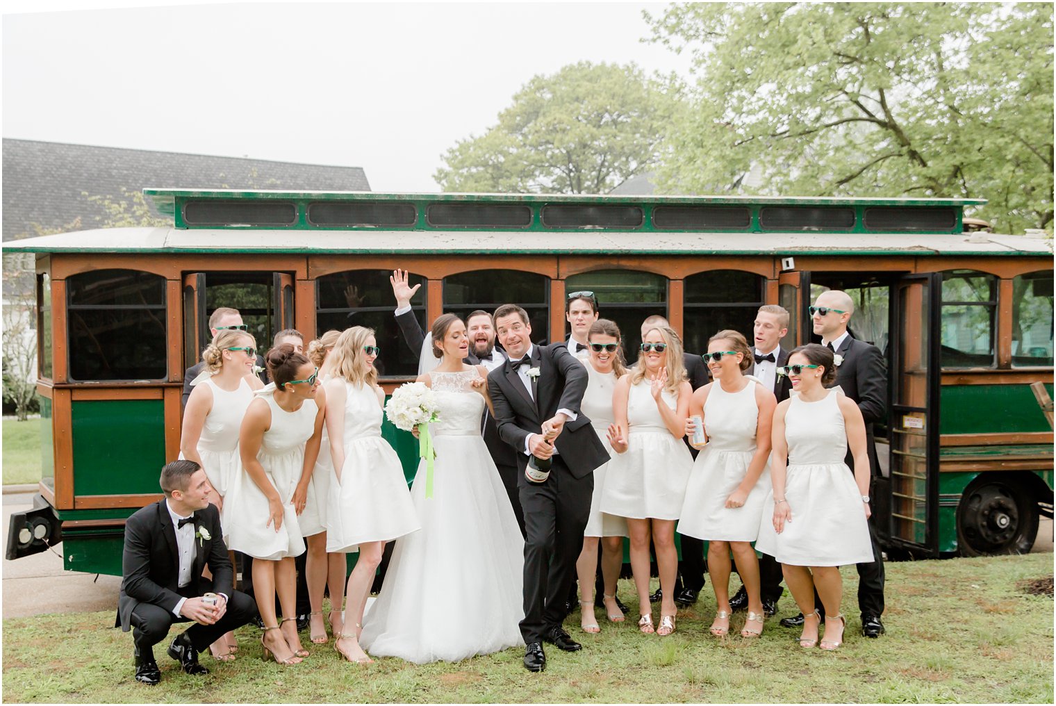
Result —
[{"label": "woman in white dress and sunglasses immediately right of champagne-opening man", "polygon": [[[620,352],[620,329],[614,321],[598,319],[587,332],[589,357],[583,360],[587,369],[587,391],[583,395],[581,408],[590,419],[598,438],[608,444],[608,426],[616,420],[612,415],[612,392],[617,380],[627,373]],[[612,456],[609,447],[608,454]],[[583,632],[601,632],[595,616],[595,574],[598,570],[598,543],[601,542],[602,596],[605,611],[612,623],[623,623],[623,611],[616,603],[616,581],[623,565],[623,538],[627,536],[627,521],[616,515],[601,512],[601,494],[605,487],[605,467],[595,468],[595,489],[590,498],[590,517],[583,531],[583,551],[576,561],[579,578],[580,627]]]}]

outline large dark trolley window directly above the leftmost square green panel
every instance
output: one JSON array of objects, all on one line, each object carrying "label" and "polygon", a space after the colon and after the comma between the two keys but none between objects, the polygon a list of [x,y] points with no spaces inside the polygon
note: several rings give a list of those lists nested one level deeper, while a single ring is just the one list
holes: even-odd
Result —
[{"label": "large dark trolley window directly above the leftmost square green panel", "polygon": [[67,311],[71,379],[166,377],[164,277],[134,270],[74,275]]}]

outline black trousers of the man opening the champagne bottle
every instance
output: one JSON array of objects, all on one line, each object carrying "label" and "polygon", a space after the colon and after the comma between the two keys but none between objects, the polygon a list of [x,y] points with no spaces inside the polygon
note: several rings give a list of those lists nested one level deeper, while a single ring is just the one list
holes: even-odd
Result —
[{"label": "black trousers of the man opening the champagne bottle", "polygon": [[576,560],[590,516],[593,473],[576,478],[560,456],[552,458],[545,482],[520,481],[525,516],[525,617],[521,621],[525,644],[543,642],[547,630],[564,621],[565,596],[576,580]]}]

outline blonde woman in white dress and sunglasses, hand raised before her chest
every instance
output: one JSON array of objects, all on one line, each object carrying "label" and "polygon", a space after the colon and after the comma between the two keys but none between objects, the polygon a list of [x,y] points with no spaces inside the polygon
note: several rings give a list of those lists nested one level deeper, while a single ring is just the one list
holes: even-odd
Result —
[{"label": "blonde woman in white dress and sunglasses, hand raised before her chest", "polygon": [[[678,334],[665,326],[646,331],[638,364],[612,393],[616,423],[608,428],[608,442],[617,456],[608,463],[601,500],[603,513],[627,518],[641,613],[638,629],[644,633],[675,632],[675,522],[693,468],[693,457],[682,443],[692,395]],[[663,594],[656,630],[649,606],[650,535]]]}]

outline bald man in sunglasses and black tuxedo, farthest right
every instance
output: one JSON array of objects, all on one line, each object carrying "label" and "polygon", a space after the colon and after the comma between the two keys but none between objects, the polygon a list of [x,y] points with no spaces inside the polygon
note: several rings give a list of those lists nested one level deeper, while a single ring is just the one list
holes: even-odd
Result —
[{"label": "bald man in sunglasses and black tuxedo, farthest right", "polygon": [[[872,476],[880,473],[876,446],[872,435],[872,425],[887,414],[887,365],[875,346],[857,340],[847,331],[847,324],[854,313],[854,301],[846,292],[830,290],[823,292],[810,308],[814,334],[822,337],[836,355],[836,385],[844,389],[848,397],[857,403],[865,420],[866,440],[869,448],[869,465]],[[854,460],[847,452],[845,463],[854,469]],[[863,496],[869,502],[869,496]],[[862,612],[862,634],[880,637],[884,624],[880,616],[884,613],[884,560],[876,543],[876,530],[869,519],[869,535],[872,538],[873,560],[857,564],[859,609]],[[815,601],[818,606],[821,601]],[[793,627],[803,625],[803,615],[785,618],[781,625]]]}]

